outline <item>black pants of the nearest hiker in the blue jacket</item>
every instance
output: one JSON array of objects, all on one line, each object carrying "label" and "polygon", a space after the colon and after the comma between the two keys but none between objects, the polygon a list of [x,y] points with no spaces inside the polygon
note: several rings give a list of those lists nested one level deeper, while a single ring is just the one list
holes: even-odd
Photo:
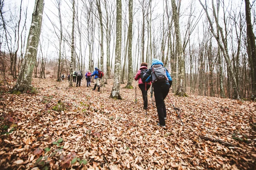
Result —
[{"label": "black pants of the nearest hiker in the blue jacket", "polygon": [[164,103],[164,99],[169,93],[170,85],[169,84],[155,84],[154,88],[154,97],[156,100],[157,113],[159,118],[159,124],[165,126],[166,117],[166,106]]}]

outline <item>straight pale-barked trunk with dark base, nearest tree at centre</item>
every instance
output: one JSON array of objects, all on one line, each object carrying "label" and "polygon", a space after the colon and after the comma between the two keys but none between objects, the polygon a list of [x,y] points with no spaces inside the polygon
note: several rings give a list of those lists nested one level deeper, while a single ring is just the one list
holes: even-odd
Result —
[{"label": "straight pale-barked trunk with dark base, nearest tree at centre", "polygon": [[121,47],[122,47],[122,0],[116,0],[116,54],[115,54],[115,76],[111,98],[122,99],[120,95],[121,78]]}]

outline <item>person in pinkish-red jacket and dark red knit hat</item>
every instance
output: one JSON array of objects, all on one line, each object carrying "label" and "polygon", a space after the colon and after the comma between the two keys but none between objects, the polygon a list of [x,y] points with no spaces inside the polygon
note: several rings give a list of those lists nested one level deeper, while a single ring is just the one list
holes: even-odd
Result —
[{"label": "person in pinkish-red jacket and dark red knit hat", "polygon": [[148,70],[148,64],[146,62],[142,62],[140,64],[140,69],[137,71],[136,76],[134,77],[134,79],[137,81],[139,80],[139,88],[142,92],[142,97],[143,97],[143,109],[147,110],[148,109],[148,89],[150,88],[151,82],[143,82],[142,79],[140,78],[140,74],[141,73],[145,73],[145,71]]}]

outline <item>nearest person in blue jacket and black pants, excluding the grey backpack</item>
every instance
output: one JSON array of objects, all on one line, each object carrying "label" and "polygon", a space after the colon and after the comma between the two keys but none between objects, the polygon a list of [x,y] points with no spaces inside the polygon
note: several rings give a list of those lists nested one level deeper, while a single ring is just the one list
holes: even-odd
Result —
[{"label": "nearest person in blue jacket and black pants, excluding the grey backpack", "polygon": [[[158,59],[152,59],[152,65],[151,68],[148,69],[146,74],[144,74],[143,79],[146,79],[145,82],[152,81],[152,86],[154,89],[154,97],[156,100],[156,106],[157,106],[157,113],[159,118],[159,123],[157,123],[160,127],[166,127],[166,105],[164,103],[164,99],[169,93],[170,87],[172,85],[172,77],[170,76],[168,70],[166,70],[166,77],[167,79],[164,81],[153,81],[152,79],[152,67],[153,65],[162,65],[163,62]],[[153,75],[154,77],[154,75]]]}]

